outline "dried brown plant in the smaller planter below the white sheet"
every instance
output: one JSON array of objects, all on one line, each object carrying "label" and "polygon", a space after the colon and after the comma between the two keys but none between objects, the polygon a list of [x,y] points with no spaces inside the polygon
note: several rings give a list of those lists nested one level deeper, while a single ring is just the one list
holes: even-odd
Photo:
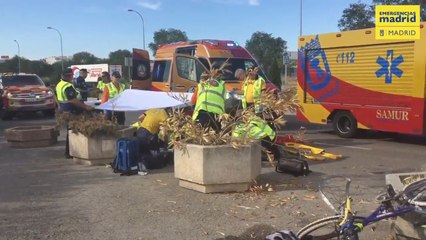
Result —
[{"label": "dried brown plant in the smaller planter below the white sheet", "polygon": [[109,136],[117,137],[119,125],[115,121],[105,118],[103,113],[90,112],[80,115],[61,112],[56,116],[58,126],[68,127],[74,133],[81,133],[86,137]]}]

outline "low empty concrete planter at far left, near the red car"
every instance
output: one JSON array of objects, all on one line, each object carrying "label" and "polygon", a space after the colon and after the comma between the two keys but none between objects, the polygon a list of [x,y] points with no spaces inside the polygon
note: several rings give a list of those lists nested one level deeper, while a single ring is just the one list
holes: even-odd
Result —
[{"label": "low empty concrete planter at far left, near the red car", "polygon": [[57,143],[59,131],[55,126],[23,126],[6,129],[5,137],[10,147],[47,147]]}]

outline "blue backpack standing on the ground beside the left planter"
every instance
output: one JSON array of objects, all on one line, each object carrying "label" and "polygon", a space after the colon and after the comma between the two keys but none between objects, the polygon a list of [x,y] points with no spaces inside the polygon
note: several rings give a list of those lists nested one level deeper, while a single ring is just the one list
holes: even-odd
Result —
[{"label": "blue backpack standing on the ground beside the left planter", "polygon": [[120,138],[117,140],[117,153],[111,167],[121,175],[137,174],[139,162],[139,143],[136,139]]}]

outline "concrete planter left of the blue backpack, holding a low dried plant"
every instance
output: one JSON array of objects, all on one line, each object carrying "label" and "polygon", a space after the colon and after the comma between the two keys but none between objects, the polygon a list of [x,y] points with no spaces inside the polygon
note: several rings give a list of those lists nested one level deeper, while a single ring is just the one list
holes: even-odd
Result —
[{"label": "concrete planter left of the blue backpack, holding a low dried plant", "polygon": [[118,138],[131,138],[136,128],[126,127],[119,130],[118,137],[96,136],[86,137],[69,130],[70,155],[74,162],[83,165],[105,165],[112,162],[116,153]]}]

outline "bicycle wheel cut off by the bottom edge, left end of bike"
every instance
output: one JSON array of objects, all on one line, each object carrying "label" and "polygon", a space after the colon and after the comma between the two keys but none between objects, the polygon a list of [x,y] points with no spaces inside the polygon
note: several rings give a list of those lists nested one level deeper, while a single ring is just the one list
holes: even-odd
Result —
[{"label": "bicycle wheel cut off by the bottom edge, left end of bike", "polygon": [[[343,216],[330,216],[316,220],[297,232],[300,240],[327,240],[338,239],[338,224],[342,221]],[[364,222],[364,217],[354,217],[355,223]]]}]

